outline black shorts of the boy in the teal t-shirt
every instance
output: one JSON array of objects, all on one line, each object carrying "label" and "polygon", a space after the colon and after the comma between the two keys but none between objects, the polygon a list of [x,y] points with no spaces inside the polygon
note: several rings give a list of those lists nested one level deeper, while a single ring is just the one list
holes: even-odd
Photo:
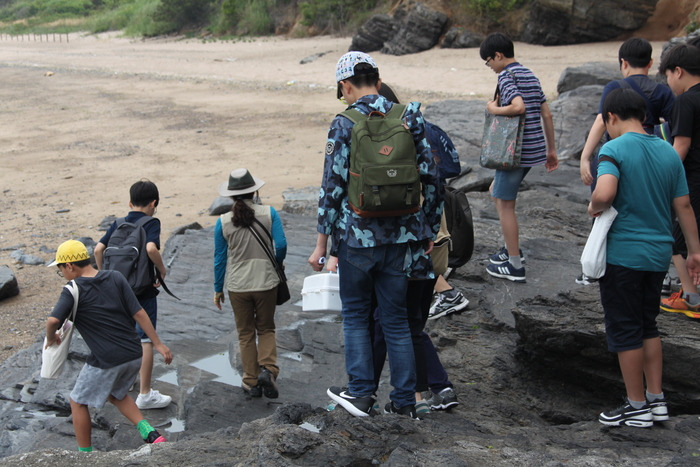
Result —
[{"label": "black shorts of the boy in the teal t-shirt", "polygon": [[661,284],[666,272],[636,271],[608,263],[600,278],[608,350],[639,349],[644,339],[659,337]]}]

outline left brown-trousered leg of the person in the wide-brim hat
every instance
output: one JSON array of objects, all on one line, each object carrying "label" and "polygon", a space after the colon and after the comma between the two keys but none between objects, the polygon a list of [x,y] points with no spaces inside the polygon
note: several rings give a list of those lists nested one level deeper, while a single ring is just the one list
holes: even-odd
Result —
[{"label": "left brown-trousered leg of the person in the wide-brim hat", "polygon": [[243,383],[248,387],[258,384],[260,366],[258,365],[258,349],[255,344],[255,309],[251,294],[228,293],[233,316],[238,331],[238,345],[241,351],[243,365]]}]

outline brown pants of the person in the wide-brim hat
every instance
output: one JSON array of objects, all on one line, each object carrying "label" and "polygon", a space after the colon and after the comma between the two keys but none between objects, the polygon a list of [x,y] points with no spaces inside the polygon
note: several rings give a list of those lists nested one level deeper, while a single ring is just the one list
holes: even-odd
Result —
[{"label": "brown pants of the person in the wide-brim hat", "polygon": [[[264,292],[229,292],[233,316],[238,330],[238,345],[243,362],[243,382],[258,384],[260,367],[264,366],[277,379],[277,340],[275,338],[275,307],[277,287]],[[257,337],[257,345],[256,345]]]}]

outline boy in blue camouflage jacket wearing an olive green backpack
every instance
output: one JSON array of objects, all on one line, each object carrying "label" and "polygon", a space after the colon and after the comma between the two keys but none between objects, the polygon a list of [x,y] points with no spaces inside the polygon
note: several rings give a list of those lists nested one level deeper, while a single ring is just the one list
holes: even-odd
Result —
[{"label": "boy in blue camouflage jacket wearing an olive green backpack", "polygon": [[[339,240],[349,381],[347,388],[331,387],[327,393],[357,417],[369,416],[372,410],[375,387],[369,319],[374,290],[394,387],[384,410],[416,418],[407,274],[432,276],[425,254],[432,250],[440,229],[442,186],[425,139],[420,104],[393,104],[380,96],[377,65],[362,52],[343,55],[335,76],[338,98],[349,108],[333,120],[328,132],[318,239],[309,264],[320,271],[328,237]],[[414,259],[419,264],[411,265]]]}]

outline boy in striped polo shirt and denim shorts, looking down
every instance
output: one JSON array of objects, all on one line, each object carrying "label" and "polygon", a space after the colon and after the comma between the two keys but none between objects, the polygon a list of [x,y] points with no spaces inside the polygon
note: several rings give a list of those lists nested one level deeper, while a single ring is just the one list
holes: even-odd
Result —
[{"label": "boy in striped polo shirt and denim shorts, looking down", "polygon": [[525,282],[524,258],[518,243],[518,220],[515,199],[518,188],[530,168],[544,164],[547,172],[559,167],[554,148],[554,122],[542,92],[540,81],[528,68],[515,59],[513,41],[501,33],[489,34],[481,43],[479,54],[494,73],[498,74],[498,101],[486,108],[493,115],[525,114],[525,129],[520,167],[496,170],[490,191],[496,203],[501,231],[506,246],[493,254],[486,272],[494,277]]}]

